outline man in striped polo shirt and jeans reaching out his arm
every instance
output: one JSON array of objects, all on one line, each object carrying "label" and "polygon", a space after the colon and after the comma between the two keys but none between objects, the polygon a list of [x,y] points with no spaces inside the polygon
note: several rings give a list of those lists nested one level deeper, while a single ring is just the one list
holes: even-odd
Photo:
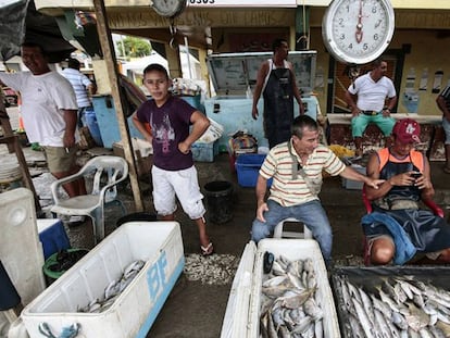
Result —
[{"label": "man in striped polo shirt and jeans reaching out his arm", "polygon": [[[368,178],[346,166],[332,150],[318,143],[317,123],[308,115],[293,120],[291,138],[272,148],[261,166],[257,183],[257,218],[252,240],[272,236],[283,220],[293,217],[308,225],[321,247],[325,262],[332,255],[332,227],[318,199],[322,171],[348,179],[364,181],[377,189],[383,180]],[[265,202],[267,179],[273,177]]]}]

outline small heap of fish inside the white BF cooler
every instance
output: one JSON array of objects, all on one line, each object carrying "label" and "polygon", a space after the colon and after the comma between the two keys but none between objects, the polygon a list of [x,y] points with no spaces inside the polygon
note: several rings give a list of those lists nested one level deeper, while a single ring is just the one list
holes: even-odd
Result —
[{"label": "small heap of fish inside the white BF cooler", "polygon": [[133,281],[146,262],[137,260],[128,264],[120,278],[113,279],[104,289],[103,297],[92,300],[86,306],[79,308],[77,312],[101,313],[112,306],[123,290]]}]

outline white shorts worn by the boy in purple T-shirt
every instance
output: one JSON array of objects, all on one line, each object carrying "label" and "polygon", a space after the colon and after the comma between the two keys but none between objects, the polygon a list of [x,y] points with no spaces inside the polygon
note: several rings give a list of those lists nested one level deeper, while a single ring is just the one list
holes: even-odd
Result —
[{"label": "white shorts worn by the boy in purple T-shirt", "polygon": [[207,212],[201,201],[197,170],[191,167],[183,171],[164,171],[152,166],[153,203],[159,215],[171,215],[176,211],[175,196],[183,210],[191,220],[203,217]]}]

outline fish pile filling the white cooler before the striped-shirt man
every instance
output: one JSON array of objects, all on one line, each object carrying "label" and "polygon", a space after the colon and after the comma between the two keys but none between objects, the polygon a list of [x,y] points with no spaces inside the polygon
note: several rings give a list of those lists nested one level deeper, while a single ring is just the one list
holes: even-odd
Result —
[{"label": "fish pile filling the white cooler before the striped-shirt man", "polygon": [[324,337],[312,259],[274,260],[261,287],[260,337]]}]

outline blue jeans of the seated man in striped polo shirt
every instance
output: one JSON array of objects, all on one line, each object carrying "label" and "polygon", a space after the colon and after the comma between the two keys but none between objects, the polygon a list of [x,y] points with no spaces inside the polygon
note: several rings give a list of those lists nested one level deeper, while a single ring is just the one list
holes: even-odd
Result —
[{"label": "blue jeans of the seated man in striped polo shirt", "polygon": [[275,226],[283,220],[295,217],[307,224],[314,239],[321,247],[326,263],[332,258],[333,234],[328,217],[318,200],[293,206],[282,206],[272,200],[267,201],[268,211],[264,213],[265,223],[255,218],[251,229],[251,239],[257,243],[272,237]]}]

